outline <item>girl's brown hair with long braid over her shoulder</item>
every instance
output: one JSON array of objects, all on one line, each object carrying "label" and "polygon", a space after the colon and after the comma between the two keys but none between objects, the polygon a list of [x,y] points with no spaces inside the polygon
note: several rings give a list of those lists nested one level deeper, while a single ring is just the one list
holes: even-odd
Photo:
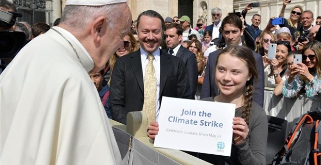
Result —
[{"label": "girl's brown hair with long braid over her shoulder", "polygon": [[238,45],[231,45],[223,49],[217,56],[217,60],[214,68],[217,66],[218,59],[222,54],[230,54],[244,61],[249,68],[249,74],[252,75],[250,80],[246,82],[243,91],[243,107],[241,109],[241,117],[249,125],[250,123],[250,110],[252,108],[252,96],[254,93],[254,80],[258,78],[257,69],[255,66],[255,58],[253,52],[248,47],[242,47]]}]

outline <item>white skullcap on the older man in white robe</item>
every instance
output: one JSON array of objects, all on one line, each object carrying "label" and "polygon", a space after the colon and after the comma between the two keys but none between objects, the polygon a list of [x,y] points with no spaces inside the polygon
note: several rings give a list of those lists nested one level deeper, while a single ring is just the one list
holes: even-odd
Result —
[{"label": "white skullcap on the older man in white robe", "polygon": [[66,5],[103,6],[126,1],[127,0],[67,0]]}]

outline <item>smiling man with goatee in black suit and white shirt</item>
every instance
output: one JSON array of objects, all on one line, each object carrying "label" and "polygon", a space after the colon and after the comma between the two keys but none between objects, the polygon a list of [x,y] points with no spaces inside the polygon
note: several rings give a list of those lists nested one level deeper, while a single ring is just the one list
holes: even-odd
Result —
[{"label": "smiling man with goatee in black suit and white shirt", "polygon": [[159,13],[147,10],[138,16],[137,32],[141,48],[118,58],[111,76],[109,108],[114,120],[126,124],[128,112],[142,111],[146,100],[144,94],[147,93],[144,87],[149,86],[144,84],[145,68],[151,62],[147,59],[151,54],[157,79],[156,121],[162,96],[192,97],[183,61],[160,50],[164,29],[164,20]]}]

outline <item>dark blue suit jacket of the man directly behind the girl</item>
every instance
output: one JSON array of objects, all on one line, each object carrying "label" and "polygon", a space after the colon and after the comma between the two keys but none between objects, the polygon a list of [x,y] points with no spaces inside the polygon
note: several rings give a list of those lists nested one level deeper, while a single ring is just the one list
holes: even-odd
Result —
[{"label": "dark blue suit jacket of the man directly behind the girl", "polygon": [[[207,59],[207,65],[205,72],[205,77],[202,85],[201,96],[200,98],[207,98],[217,96],[219,94],[218,88],[215,83],[215,72],[214,72],[214,65],[216,63],[217,55],[222,51],[222,49],[218,49],[212,53],[210,53]],[[264,68],[263,68],[263,60],[261,55],[257,54],[256,52],[252,51],[255,62],[256,62],[256,69],[258,73],[258,79],[254,81],[254,94],[253,100],[263,107],[263,99],[264,99]]]}]

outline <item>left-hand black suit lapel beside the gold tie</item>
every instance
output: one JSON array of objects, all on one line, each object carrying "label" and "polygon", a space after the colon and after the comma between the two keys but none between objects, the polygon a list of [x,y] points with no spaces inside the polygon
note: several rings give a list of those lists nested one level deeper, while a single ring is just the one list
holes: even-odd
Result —
[{"label": "left-hand black suit lapel beside the gold tie", "polygon": [[130,55],[130,65],[136,81],[141,89],[142,93],[144,91],[144,82],[143,82],[143,69],[142,69],[142,61],[141,61],[141,51],[138,49],[134,53]]}]

